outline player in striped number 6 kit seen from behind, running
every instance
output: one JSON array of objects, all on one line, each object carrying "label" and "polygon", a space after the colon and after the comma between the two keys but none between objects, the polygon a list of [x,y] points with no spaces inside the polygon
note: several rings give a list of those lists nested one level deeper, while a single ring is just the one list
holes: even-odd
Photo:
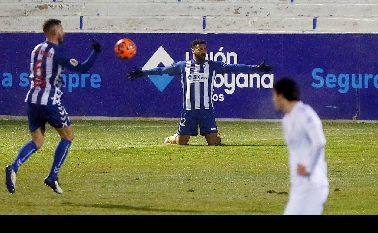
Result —
[{"label": "player in striped number 6 kit seen from behind, running", "polygon": [[86,73],[101,51],[101,45],[93,41],[94,51],[81,63],[65,53],[59,46],[63,42],[63,26],[60,20],[49,19],[43,23],[46,41],[37,45],[31,53],[31,85],[26,95],[27,114],[31,140],[20,148],[14,162],[5,168],[6,187],[15,191],[16,174],[19,167],[43,145],[45,125],[48,122],[59,133],[61,139],[54,153],[53,166],[45,178],[45,184],[55,192],[62,193],[58,172],[62,166],[71,142],[74,139],[70,118],[60,103],[62,97],[62,73],[65,68]]}]

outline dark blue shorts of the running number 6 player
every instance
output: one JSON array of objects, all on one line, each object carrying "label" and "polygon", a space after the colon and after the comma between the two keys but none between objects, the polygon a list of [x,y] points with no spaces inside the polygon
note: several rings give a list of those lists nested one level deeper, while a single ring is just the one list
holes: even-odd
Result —
[{"label": "dark blue shorts of the running number 6 player", "polygon": [[42,127],[45,131],[46,122],[54,128],[64,128],[71,125],[70,117],[64,106],[56,105],[39,105],[28,103],[28,122],[29,131],[34,132]]}]

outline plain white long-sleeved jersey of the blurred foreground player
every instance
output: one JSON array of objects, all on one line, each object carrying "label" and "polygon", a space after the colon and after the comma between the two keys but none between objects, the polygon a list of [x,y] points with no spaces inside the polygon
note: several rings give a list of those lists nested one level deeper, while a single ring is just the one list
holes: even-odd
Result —
[{"label": "plain white long-sleeved jersey of the blurred foreground player", "polygon": [[[291,187],[328,187],[325,162],[325,136],[322,122],[310,105],[299,101],[282,119],[283,133],[289,151]],[[310,176],[300,176],[302,164]]]}]

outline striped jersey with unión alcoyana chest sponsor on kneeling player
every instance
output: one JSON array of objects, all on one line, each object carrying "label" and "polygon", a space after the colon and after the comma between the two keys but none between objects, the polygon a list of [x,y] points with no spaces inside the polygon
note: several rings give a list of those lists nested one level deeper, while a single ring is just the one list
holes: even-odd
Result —
[{"label": "striped jersey with uni\u00f3n alcoyana chest sponsor on kneeling player", "polygon": [[184,60],[171,66],[144,70],[144,75],[181,76],[183,88],[183,110],[213,109],[214,80],[216,74],[251,73],[256,71],[255,65],[226,64],[219,61]]}]

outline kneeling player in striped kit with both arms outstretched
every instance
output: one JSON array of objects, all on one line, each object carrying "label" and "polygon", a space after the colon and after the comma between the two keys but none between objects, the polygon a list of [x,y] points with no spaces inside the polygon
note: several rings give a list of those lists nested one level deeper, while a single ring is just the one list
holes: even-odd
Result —
[{"label": "kneeling player in striped kit with both arms outstretched", "polygon": [[216,74],[251,73],[255,71],[271,72],[272,67],[262,62],[260,65],[226,64],[219,61],[206,60],[206,42],[194,40],[191,43],[194,59],[173,63],[171,66],[157,67],[148,70],[135,68],[127,77],[134,80],[141,76],[163,75],[181,76],[183,88],[183,110],[178,131],[167,137],[165,143],[186,145],[191,136],[205,136],[209,145],[219,145],[220,136],[214,117],[213,91]]}]

